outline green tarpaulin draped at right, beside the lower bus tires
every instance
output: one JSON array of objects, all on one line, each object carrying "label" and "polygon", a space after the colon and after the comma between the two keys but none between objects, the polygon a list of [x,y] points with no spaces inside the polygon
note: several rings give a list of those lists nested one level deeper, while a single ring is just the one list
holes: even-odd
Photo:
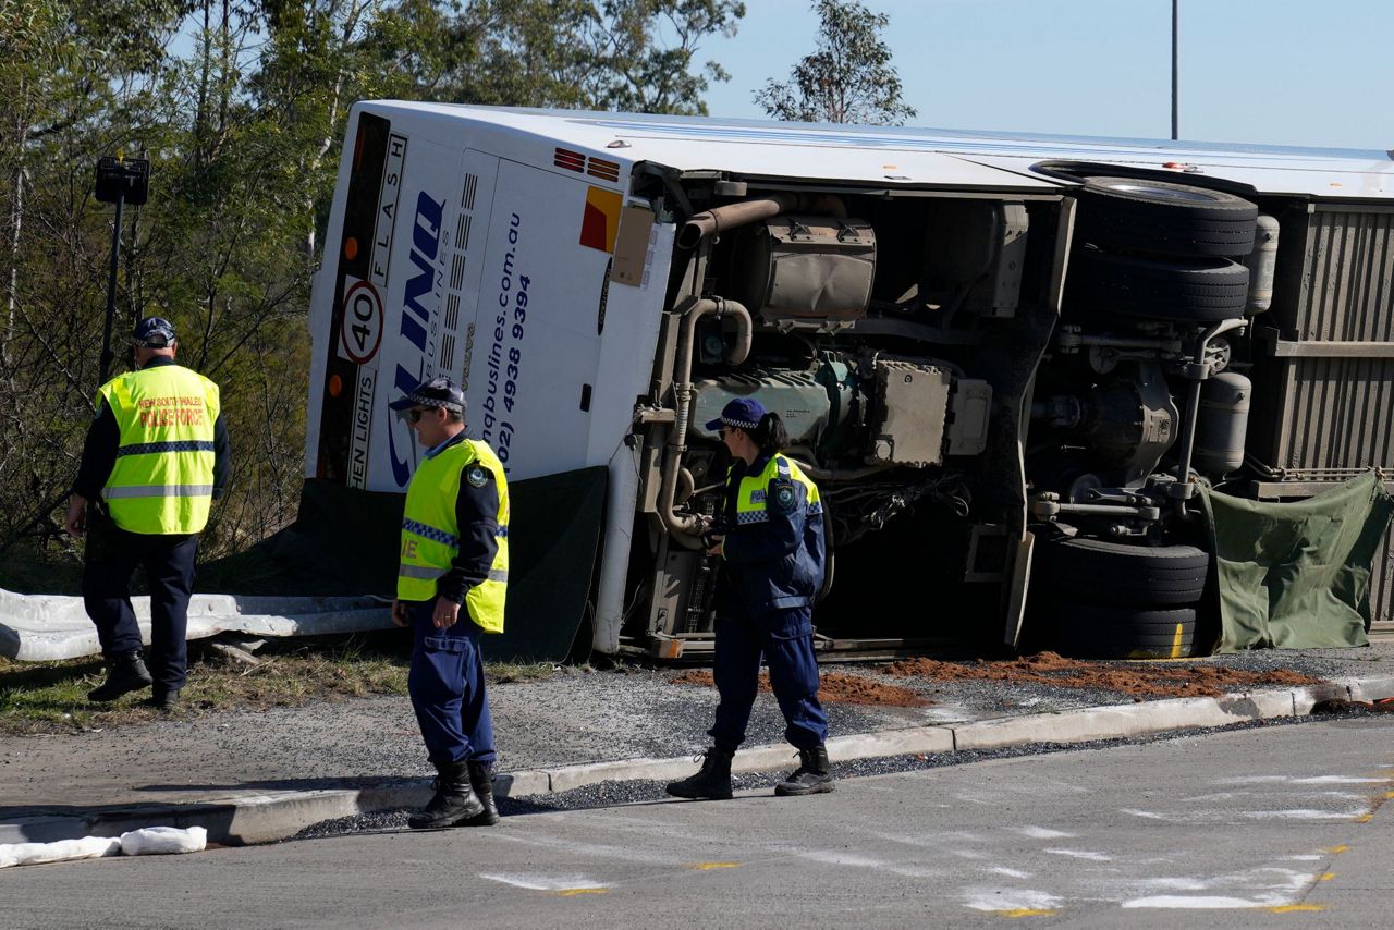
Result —
[{"label": "green tarpaulin draped at right, beside the lower bus tires", "polygon": [[1394,498],[1370,471],[1306,501],[1203,491],[1220,590],[1218,653],[1365,646],[1370,565]]}]

